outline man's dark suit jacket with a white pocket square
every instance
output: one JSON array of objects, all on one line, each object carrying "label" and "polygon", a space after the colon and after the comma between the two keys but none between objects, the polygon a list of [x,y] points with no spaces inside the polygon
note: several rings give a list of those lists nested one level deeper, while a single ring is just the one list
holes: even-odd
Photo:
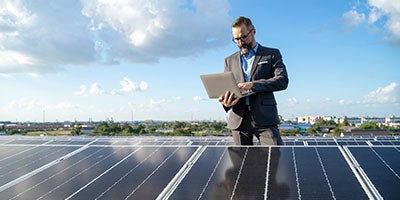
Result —
[{"label": "man's dark suit jacket with a white pocket square", "polygon": [[[224,71],[233,72],[237,83],[244,82],[239,51],[225,58]],[[273,92],[286,89],[289,78],[278,49],[259,45],[251,69],[250,81],[253,82],[255,91],[255,94],[249,96],[251,115],[255,125],[268,127],[279,124],[280,119]],[[246,108],[245,99],[241,98],[232,107],[224,107],[227,112],[231,110],[227,126],[229,129],[237,129],[242,123]]]}]

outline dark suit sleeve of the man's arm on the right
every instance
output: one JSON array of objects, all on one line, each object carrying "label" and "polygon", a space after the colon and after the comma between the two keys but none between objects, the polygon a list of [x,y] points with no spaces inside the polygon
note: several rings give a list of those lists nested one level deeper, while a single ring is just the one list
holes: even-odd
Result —
[{"label": "dark suit sleeve of the man's arm on the right", "polygon": [[275,49],[271,56],[272,73],[269,78],[253,80],[255,92],[274,92],[285,90],[289,84],[286,66],[283,64],[282,55]]}]

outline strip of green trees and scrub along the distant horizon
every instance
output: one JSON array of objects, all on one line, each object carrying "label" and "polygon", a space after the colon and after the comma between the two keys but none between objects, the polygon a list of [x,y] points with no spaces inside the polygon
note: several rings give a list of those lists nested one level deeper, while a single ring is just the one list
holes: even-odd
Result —
[{"label": "strip of green trees and scrub along the distant horizon", "polygon": [[[295,124],[296,122],[287,122]],[[91,129],[87,129],[88,125],[82,126],[79,122],[72,123],[69,127],[58,125],[52,128],[52,125],[39,124],[37,126],[7,128],[0,126],[0,132],[10,135],[73,135],[79,136],[90,132],[91,135],[103,136],[136,136],[136,135],[165,135],[165,136],[207,136],[207,135],[230,135],[231,131],[226,128],[226,122],[157,122],[146,121],[141,123],[118,123],[118,122],[100,122],[89,125]],[[39,127],[39,128],[38,128]],[[95,129],[93,130],[93,127]],[[322,136],[328,134],[330,136],[340,136],[340,134],[349,127],[347,117],[344,117],[342,123],[335,123],[333,120],[320,120],[313,124],[310,128],[302,126],[292,126],[294,129],[282,129],[283,136],[296,135],[315,135]],[[296,128],[297,127],[297,128]],[[375,122],[367,122],[362,124],[360,129],[367,130],[388,130],[398,132],[398,127],[379,126]],[[86,133],[87,134],[87,133]]]}]

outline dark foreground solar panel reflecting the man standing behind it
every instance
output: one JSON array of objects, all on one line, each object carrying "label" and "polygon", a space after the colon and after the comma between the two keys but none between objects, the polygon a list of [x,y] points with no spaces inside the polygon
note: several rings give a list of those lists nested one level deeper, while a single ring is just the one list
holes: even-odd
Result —
[{"label": "dark foreground solar panel reflecting the man standing behind it", "polygon": [[169,199],[350,197],[368,198],[338,148],[216,147],[204,151]]}]

